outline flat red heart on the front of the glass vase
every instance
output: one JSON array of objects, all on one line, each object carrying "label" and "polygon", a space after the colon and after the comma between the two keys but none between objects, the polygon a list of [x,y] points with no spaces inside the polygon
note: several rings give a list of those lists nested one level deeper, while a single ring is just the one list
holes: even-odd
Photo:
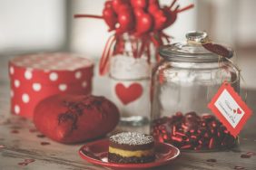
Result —
[{"label": "flat red heart on the front of the glass vase", "polygon": [[122,83],[117,83],[115,86],[115,93],[124,105],[139,99],[143,94],[143,87],[139,83],[133,83],[128,88]]}]

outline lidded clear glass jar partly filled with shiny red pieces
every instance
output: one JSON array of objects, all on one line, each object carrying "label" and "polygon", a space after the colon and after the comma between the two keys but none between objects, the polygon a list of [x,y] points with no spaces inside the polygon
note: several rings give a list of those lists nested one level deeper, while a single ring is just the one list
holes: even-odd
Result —
[{"label": "lidded clear glass jar partly filled with shiny red pieces", "polygon": [[162,61],[152,78],[151,133],[160,142],[182,149],[211,150],[235,146],[236,139],[207,107],[223,82],[239,92],[240,73],[233,51],[221,57],[204,48],[204,32],[186,34],[187,41],[162,46]]}]

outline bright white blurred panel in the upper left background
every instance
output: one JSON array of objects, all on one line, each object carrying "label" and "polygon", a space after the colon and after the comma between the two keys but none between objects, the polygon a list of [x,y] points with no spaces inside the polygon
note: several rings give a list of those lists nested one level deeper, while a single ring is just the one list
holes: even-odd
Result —
[{"label": "bright white blurred panel in the upper left background", "polygon": [[0,0],[0,53],[63,49],[65,6],[64,0]]}]

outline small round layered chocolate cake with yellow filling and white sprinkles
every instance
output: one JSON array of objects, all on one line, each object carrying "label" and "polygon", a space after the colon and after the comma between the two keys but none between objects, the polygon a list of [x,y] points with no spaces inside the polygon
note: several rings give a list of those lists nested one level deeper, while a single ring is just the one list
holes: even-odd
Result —
[{"label": "small round layered chocolate cake with yellow filling and white sprinkles", "polygon": [[123,132],[109,138],[108,161],[113,163],[153,162],[153,137],[136,132]]}]

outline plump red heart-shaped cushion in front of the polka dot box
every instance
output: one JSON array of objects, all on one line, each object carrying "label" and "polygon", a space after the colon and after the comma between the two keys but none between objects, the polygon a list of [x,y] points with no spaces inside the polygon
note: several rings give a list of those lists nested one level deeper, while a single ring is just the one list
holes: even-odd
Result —
[{"label": "plump red heart-shaped cushion in front of the polka dot box", "polygon": [[118,109],[103,97],[57,95],[44,99],[34,110],[35,127],[46,137],[62,143],[102,137],[118,121]]}]

